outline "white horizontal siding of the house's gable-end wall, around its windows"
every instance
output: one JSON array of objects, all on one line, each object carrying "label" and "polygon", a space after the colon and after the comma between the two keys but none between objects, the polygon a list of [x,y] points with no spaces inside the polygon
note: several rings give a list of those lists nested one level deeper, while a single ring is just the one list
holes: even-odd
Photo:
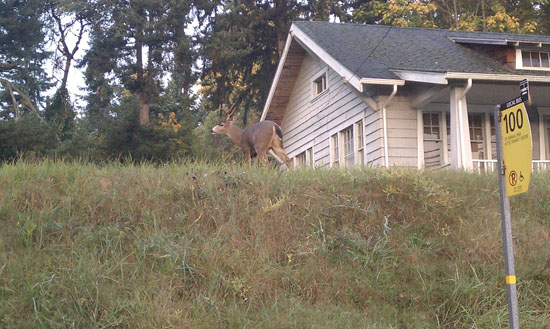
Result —
[{"label": "white horizontal siding of the house's gable-end wall, around its windows", "polygon": [[[319,74],[327,72],[327,90],[313,97],[312,81]],[[364,138],[367,144],[367,161],[382,157],[381,141],[374,113],[347,86],[343,79],[327,65],[313,56],[304,59],[301,72],[290,98],[282,122],[284,147],[289,157],[303,152],[313,144],[315,166],[328,166],[330,163],[330,136],[357,120],[364,121]],[[366,117],[365,117],[366,115]]]}]

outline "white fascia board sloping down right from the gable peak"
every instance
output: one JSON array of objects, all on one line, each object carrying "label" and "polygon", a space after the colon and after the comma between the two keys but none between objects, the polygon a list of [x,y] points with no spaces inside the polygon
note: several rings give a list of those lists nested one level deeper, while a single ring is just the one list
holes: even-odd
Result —
[{"label": "white fascia board sloping down right from the gable peak", "polygon": [[359,77],[350,71],[347,67],[338,62],[327,51],[320,47],[315,41],[313,41],[304,31],[300,30],[296,25],[292,24],[290,27],[290,33],[294,36],[294,39],[304,47],[308,52],[315,54],[322,61],[327,63],[336,73],[338,73],[345,81],[351,84],[353,87],[360,90],[361,83]]}]

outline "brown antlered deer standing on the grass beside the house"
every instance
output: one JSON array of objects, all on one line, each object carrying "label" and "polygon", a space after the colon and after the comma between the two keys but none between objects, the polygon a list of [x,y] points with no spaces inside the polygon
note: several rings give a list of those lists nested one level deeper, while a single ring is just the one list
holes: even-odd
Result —
[{"label": "brown antlered deer standing on the grass beside the house", "polygon": [[248,161],[251,164],[260,159],[264,166],[268,166],[267,153],[269,152],[279,163],[285,163],[290,168],[290,159],[283,149],[283,131],[278,124],[273,121],[260,121],[246,128],[244,131],[235,125],[239,118],[239,113],[233,116],[236,110],[236,104],[227,111],[223,106],[220,109],[225,113],[223,122],[212,128],[213,134],[227,135],[233,143],[238,145]]}]

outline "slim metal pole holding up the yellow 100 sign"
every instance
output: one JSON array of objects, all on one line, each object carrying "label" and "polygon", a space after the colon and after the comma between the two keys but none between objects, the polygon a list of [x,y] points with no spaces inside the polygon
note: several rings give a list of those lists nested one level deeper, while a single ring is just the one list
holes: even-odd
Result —
[{"label": "slim metal pole holding up the yellow 100 sign", "polygon": [[500,209],[502,218],[502,240],[506,262],[506,286],[508,288],[508,316],[510,329],[519,329],[518,294],[514,269],[514,242],[512,240],[512,220],[510,199],[506,196],[506,164],[502,159],[502,132],[500,130],[500,105],[495,106],[495,131],[497,138],[498,181],[500,185]]}]

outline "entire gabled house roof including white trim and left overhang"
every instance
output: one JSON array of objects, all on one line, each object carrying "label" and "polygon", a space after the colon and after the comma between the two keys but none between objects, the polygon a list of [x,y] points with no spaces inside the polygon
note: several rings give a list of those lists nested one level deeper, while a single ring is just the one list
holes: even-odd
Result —
[{"label": "entire gabled house roof including white trim and left overhang", "polygon": [[550,71],[516,70],[479,51],[513,52],[518,46],[550,52],[550,36],[294,22],[261,120],[282,122],[306,52],[319,57],[360,92],[364,85],[395,86],[406,81],[445,85],[449,79],[529,78],[550,83]]}]

